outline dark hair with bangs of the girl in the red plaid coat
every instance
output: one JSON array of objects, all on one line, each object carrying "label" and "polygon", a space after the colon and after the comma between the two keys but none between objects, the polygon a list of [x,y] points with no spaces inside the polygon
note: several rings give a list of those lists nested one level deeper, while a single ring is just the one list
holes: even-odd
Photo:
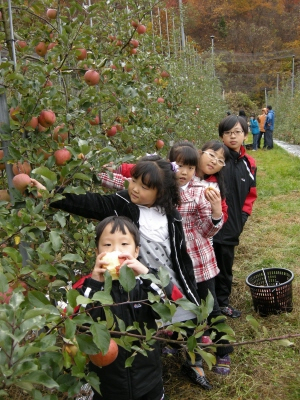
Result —
[{"label": "dark hair with bangs of the girl in the red plaid coat", "polygon": [[196,174],[199,173],[199,153],[193,143],[187,140],[176,142],[169,152],[169,160],[176,161],[178,164],[190,165],[195,167]]}]

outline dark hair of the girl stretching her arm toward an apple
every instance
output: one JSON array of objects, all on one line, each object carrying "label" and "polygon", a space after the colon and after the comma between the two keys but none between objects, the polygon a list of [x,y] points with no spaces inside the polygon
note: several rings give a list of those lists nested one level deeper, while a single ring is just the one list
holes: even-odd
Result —
[{"label": "dark hair of the girl stretching her arm toward an apple", "polygon": [[144,156],[131,170],[132,178],[141,178],[144,185],[157,189],[154,205],[167,214],[180,205],[179,185],[169,161],[158,155]]}]

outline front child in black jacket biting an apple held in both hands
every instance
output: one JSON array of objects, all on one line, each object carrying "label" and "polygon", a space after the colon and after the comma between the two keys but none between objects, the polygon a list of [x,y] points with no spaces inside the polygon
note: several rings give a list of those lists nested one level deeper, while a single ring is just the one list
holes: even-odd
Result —
[{"label": "front child in black jacket biting an apple held in both hands", "polygon": [[[111,311],[115,318],[115,329],[117,330],[116,317],[118,317],[126,326],[138,323],[145,334],[145,325],[147,329],[157,329],[155,319],[159,316],[149,306],[148,293],[160,295],[160,288],[140,276],[153,271],[137,260],[139,246],[139,231],[128,218],[116,216],[105,218],[96,227],[96,261],[92,274],[80,279],[73,288],[83,296],[91,298],[95,292],[103,290],[104,273],[108,270],[113,278],[111,296],[116,306],[112,307]],[[118,269],[125,264],[136,276],[136,286],[129,294],[123,290],[118,281]],[[128,295],[131,302],[128,302]],[[94,320],[105,320],[102,307],[87,306],[86,310]],[[147,351],[147,357],[138,353],[130,368],[125,368],[125,361],[131,352],[121,346],[118,346],[118,355],[111,364],[100,368],[90,362],[89,369],[99,376],[101,390],[101,395],[94,392],[93,400],[162,400],[164,389],[160,347],[158,342],[151,347],[152,351]]]}]

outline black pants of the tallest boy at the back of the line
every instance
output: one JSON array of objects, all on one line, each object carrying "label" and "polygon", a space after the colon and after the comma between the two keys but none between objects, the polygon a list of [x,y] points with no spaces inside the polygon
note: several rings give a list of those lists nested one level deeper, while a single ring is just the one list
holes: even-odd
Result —
[{"label": "black pants of the tallest boy at the back of the line", "polygon": [[229,305],[229,296],[232,287],[232,266],[235,246],[214,243],[217,264],[220,269],[215,277],[216,296],[220,307]]}]

